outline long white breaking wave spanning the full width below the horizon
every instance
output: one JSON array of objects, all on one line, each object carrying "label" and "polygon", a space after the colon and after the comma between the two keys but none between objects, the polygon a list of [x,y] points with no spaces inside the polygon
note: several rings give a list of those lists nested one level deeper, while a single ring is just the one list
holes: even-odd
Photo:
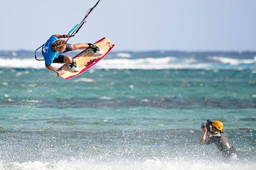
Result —
[{"label": "long white breaking wave spanning the full width below the horizon", "polygon": [[[173,56],[134,58],[129,53],[117,53],[115,56],[118,56],[118,58],[104,58],[93,69],[256,69],[256,56],[252,59],[236,59],[221,56],[208,56],[204,59]],[[62,65],[52,64],[56,69]],[[45,64],[44,61],[37,61],[34,58],[0,57],[0,67],[45,69]]]}]

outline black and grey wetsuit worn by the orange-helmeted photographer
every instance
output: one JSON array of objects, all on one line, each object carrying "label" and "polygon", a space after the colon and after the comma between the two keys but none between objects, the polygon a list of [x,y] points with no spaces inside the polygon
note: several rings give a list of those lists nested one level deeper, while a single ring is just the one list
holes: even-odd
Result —
[{"label": "black and grey wetsuit worn by the orange-helmeted photographer", "polygon": [[[226,133],[216,133],[211,134],[212,136],[210,138],[206,138],[205,142],[206,144],[215,143],[217,148],[220,150],[222,156],[226,159],[230,159],[237,157],[237,151],[232,146],[231,141]],[[235,159],[236,160],[236,159]]]}]

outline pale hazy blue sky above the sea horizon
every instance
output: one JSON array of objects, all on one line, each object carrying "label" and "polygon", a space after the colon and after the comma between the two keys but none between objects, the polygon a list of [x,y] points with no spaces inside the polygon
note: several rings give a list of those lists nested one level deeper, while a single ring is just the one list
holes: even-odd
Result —
[{"label": "pale hazy blue sky above the sea horizon", "polygon": [[[0,50],[34,51],[67,34],[97,0],[1,1]],[[114,51],[256,50],[254,0],[102,0],[68,43],[110,39]]]}]

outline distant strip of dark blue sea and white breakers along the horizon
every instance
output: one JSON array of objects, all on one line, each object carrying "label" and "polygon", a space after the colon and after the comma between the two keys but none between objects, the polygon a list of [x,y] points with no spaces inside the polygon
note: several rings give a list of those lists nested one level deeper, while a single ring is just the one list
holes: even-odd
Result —
[{"label": "distant strip of dark blue sea and white breakers along the horizon", "polygon": [[[67,55],[75,56],[77,53],[71,52]],[[38,53],[38,56],[40,56],[40,53]],[[242,56],[242,58],[239,56]],[[54,68],[59,68],[62,65],[63,64],[52,64]],[[43,69],[45,65],[44,61],[35,60],[31,51],[0,51],[0,67]],[[97,63],[93,69],[256,69],[256,53],[174,51],[114,52]]]}]

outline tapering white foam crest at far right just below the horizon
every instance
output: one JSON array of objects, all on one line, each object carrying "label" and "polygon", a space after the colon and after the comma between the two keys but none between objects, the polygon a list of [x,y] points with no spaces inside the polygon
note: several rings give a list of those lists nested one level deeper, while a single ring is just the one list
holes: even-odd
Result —
[{"label": "tapering white foam crest at far right just below the horizon", "polygon": [[235,59],[235,58],[228,58],[228,57],[219,57],[219,56],[208,56],[209,59],[220,61],[224,64],[230,64],[236,66],[238,64],[251,64],[256,62],[256,56],[254,59]]}]

